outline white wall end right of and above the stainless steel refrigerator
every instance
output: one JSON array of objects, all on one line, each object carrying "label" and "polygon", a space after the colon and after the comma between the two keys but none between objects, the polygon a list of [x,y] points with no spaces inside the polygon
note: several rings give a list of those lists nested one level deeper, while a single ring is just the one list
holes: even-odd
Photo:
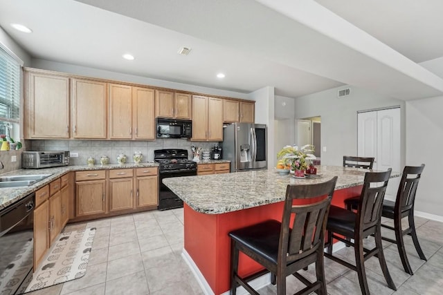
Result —
[{"label": "white wall end right of and above the stainless steel refrigerator", "polygon": [[255,123],[266,124],[268,129],[267,155],[268,169],[275,166],[275,148],[274,148],[274,88],[266,86],[253,93],[249,93],[249,99],[255,101]]}]

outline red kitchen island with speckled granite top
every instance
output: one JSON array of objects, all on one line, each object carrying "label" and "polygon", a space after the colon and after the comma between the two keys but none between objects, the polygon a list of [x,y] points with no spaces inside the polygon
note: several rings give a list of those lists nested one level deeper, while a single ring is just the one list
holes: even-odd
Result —
[{"label": "red kitchen island with speckled granite top", "polygon": [[[206,294],[229,289],[230,239],[228,232],[268,219],[281,220],[287,184],[313,184],[338,176],[332,204],[356,196],[366,170],[341,166],[317,166],[318,177],[296,179],[273,170],[220,175],[167,178],[163,182],[183,200],[183,258],[190,265]],[[392,172],[391,178],[399,173]],[[262,269],[241,255],[239,274]]]}]

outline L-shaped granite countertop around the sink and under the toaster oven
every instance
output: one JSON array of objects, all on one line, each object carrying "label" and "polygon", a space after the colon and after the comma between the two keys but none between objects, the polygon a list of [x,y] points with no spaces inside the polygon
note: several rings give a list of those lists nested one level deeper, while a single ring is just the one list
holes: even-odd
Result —
[{"label": "L-shaped granite countertop around the sink and under the toaster oven", "polygon": [[19,169],[8,173],[1,174],[0,176],[8,175],[33,175],[33,174],[51,174],[48,178],[44,178],[29,187],[8,187],[0,189],[0,210],[8,207],[8,205],[17,202],[21,198],[28,196],[29,193],[37,191],[37,189],[44,187],[49,182],[60,178],[69,171],[85,171],[85,170],[102,170],[102,169],[125,169],[125,168],[143,168],[143,167],[158,167],[156,162],[144,162],[140,164],[127,163],[127,164],[106,164],[106,165],[79,165],[79,166],[60,166],[45,169]]}]

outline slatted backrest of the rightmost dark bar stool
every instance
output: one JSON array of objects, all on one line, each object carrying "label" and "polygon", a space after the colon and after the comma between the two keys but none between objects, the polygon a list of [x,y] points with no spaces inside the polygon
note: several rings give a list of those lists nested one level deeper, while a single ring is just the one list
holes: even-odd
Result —
[{"label": "slatted backrest of the rightmost dark bar stool", "polygon": [[417,193],[417,187],[422,172],[424,170],[424,164],[421,166],[405,166],[399,189],[397,191],[397,199],[395,200],[395,210],[404,212],[410,210],[414,206],[415,193]]}]

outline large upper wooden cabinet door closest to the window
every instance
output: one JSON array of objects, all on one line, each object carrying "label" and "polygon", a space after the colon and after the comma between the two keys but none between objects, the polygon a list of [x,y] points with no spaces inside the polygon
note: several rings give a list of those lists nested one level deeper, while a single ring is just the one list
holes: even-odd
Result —
[{"label": "large upper wooden cabinet door closest to the window", "polygon": [[25,138],[69,138],[69,78],[26,75]]}]

